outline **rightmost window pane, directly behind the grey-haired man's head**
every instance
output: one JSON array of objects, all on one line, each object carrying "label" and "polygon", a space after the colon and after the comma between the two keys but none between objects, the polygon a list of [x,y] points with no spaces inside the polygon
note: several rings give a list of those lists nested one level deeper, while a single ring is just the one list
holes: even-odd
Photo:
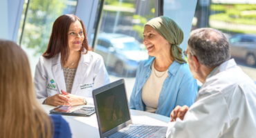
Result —
[{"label": "rightmost window pane, directly behind the grey-haired man's head", "polygon": [[199,0],[192,28],[221,30],[231,56],[256,81],[256,1]]}]

